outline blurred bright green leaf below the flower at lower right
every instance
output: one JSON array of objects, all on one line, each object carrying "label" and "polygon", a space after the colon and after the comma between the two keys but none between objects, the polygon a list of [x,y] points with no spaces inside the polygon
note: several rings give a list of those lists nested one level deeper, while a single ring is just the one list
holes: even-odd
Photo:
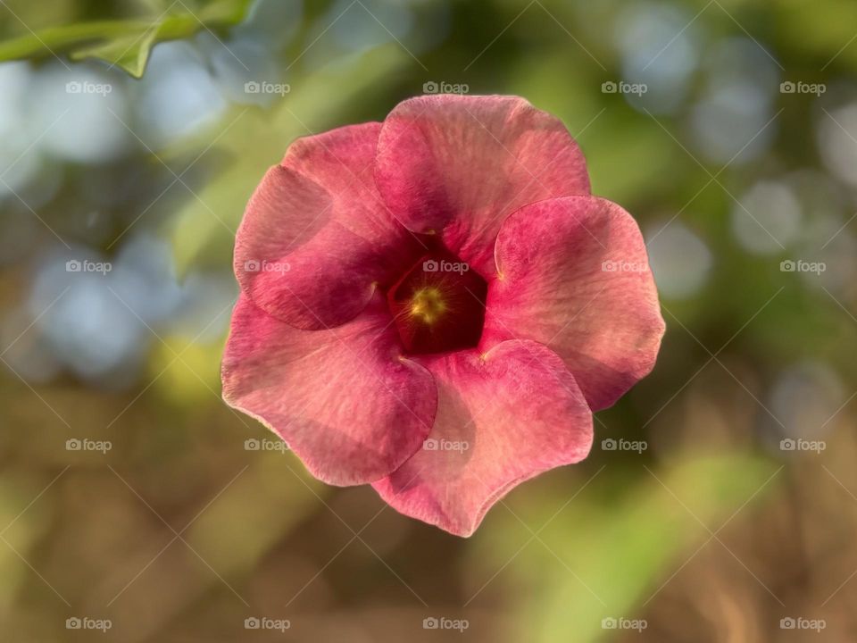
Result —
[{"label": "blurred bright green leaf below the flower at lower right", "polygon": [[[598,493],[605,480],[593,482],[539,534],[544,546],[531,543],[513,568],[522,584],[537,588],[520,614],[526,639],[588,643],[612,635],[602,619],[637,618],[670,570],[710,538],[708,530],[716,533],[761,488],[769,489],[774,472],[749,455],[695,458],[633,479],[618,503]],[[495,564],[506,562],[510,547],[520,544],[492,547]]]}]

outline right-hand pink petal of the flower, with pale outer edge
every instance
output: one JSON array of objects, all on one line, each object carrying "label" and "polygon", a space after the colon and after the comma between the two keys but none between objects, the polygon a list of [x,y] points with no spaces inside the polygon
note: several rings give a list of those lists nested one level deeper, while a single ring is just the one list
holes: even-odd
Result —
[{"label": "right-hand pink petal of the flower, with pale outer edge", "polygon": [[553,349],[593,411],[652,370],[664,323],[643,237],[619,205],[595,196],[527,205],[503,223],[495,258],[480,346],[524,338]]}]

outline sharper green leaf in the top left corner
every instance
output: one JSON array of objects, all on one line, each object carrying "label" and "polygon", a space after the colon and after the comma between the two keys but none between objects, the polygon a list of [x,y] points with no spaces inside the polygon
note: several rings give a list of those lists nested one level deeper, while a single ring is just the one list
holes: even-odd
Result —
[{"label": "sharper green leaf in the top left corner", "polygon": [[48,27],[0,43],[0,63],[68,54],[75,61],[104,60],[140,78],[154,45],[189,38],[200,29],[237,24],[244,19],[249,4],[250,0],[221,0],[198,13],[173,13],[154,21],[92,21]]}]

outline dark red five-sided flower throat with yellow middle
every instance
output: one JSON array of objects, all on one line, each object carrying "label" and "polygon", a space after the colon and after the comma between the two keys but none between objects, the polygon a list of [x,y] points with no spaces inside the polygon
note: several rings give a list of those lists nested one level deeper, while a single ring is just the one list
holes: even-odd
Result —
[{"label": "dark red five-sided flower throat with yellow middle", "polygon": [[487,283],[467,263],[439,251],[420,257],[387,303],[412,355],[476,347],[485,322]]}]

